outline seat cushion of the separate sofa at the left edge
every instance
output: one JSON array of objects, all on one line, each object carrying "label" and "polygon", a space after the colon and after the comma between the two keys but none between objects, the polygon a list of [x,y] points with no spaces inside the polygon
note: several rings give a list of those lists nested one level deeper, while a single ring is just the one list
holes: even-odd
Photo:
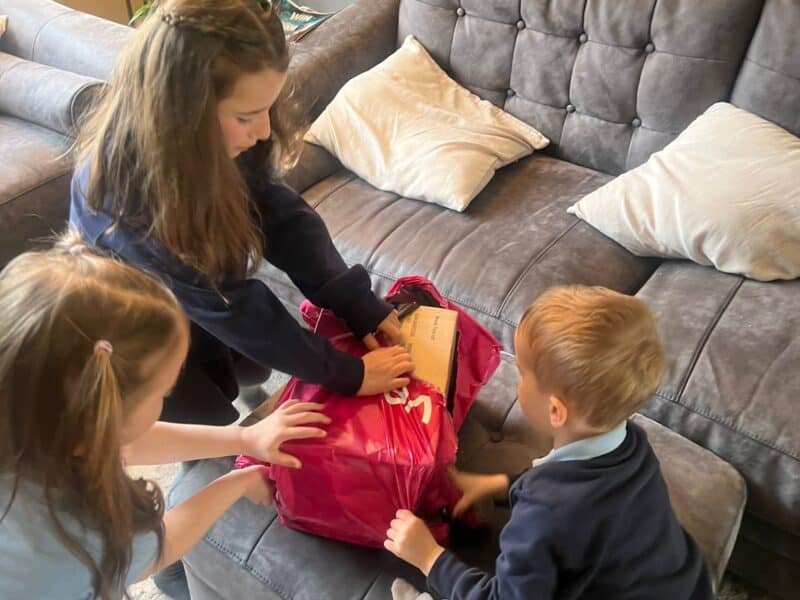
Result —
[{"label": "seat cushion of the separate sofa at the left edge", "polygon": [[0,265],[64,228],[71,161],[64,136],[0,115]]}]

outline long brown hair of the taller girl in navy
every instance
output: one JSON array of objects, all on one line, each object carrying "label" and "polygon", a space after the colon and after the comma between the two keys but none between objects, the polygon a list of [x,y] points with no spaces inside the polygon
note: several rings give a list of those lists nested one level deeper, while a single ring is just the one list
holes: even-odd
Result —
[{"label": "long brown hair of the taller girl in navy", "polygon": [[81,126],[77,159],[93,210],[145,227],[172,254],[208,276],[252,273],[263,256],[248,183],[294,162],[300,127],[287,123],[291,86],[270,110],[270,139],[231,159],[217,103],[238,77],[286,72],[289,54],[272,3],[166,0],[119,57],[109,85]]}]

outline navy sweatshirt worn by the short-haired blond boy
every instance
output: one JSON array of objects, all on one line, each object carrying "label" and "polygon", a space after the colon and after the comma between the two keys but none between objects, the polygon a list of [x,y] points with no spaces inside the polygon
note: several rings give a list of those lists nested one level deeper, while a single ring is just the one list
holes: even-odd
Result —
[{"label": "navy sweatshirt worn by the short-haired blond boy", "polygon": [[449,600],[711,600],[705,559],[681,528],[644,431],[587,460],[546,462],[511,486],[496,575],[445,551],[428,575]]}]

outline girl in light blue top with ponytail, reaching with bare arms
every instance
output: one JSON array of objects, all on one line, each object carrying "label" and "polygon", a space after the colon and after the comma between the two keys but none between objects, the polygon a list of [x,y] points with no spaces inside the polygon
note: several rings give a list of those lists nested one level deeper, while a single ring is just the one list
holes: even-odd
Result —
[{"label": "girl in light blue top with ponytail, reaching with bare arms", "polygon": [[[0,273],[0,598],[120,598],[172,563],[236,500],[269,504],[260,468],[231,472],[164,514],[125,465],[241,452],[299,467],[288,439],[323,436],[321,405],[250,428],[156,422],[189,323],[161,283],[68,237]],[[285,406],[285,405],[284,405]]]}]

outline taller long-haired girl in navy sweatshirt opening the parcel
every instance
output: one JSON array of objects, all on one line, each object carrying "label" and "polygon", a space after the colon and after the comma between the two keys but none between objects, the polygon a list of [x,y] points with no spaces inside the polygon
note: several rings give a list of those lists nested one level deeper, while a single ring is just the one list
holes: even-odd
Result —
[{"label": "taller long-haired girl in navy sweatshirt opening the parcel", "polygon": [[[343,394],[408,383],[399,321],[349,267],[322,219],[279,183],[302,143],[287,122],[289,54],[267,0],[163,0],[119,57],[78,140],[70,220],[92,244],[158,274],[191,320],[165,420],[229,423],[239,384],[277,368]],[[277,3],[275,3],[277,4]],[[285,271],[373,349],[303,329],[253,278]]]}]

